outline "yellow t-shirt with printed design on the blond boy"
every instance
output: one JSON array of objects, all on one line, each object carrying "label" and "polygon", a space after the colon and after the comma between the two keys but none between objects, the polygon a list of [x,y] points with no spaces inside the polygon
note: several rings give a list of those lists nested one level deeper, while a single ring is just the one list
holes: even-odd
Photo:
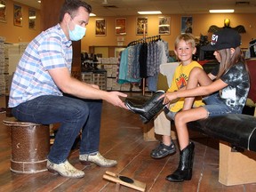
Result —
[{"label": "yellow t-shirt with printed design on the blond boy", "polygon": [[[174,75],[172,77],[171,87],[167,90],[167,92],[175,92],[180,90],[182,87],[186,86],[188,83],[188,76],[190,74],[190,71],[196,67],[202,68],[202,66],[196,61],[192,61],[187,66],[183,66],[180,63],[180,65],[175,69]],[[172,112],[178,112],[181,108],[183,108],[183,105],[184,98],[180,98],[180,100],[178,100],[175,104],[171,105],[170,110]],[[202,98],[196,97],[194,101],[194,107],[197,108],[202,105],[204,105]]]}]

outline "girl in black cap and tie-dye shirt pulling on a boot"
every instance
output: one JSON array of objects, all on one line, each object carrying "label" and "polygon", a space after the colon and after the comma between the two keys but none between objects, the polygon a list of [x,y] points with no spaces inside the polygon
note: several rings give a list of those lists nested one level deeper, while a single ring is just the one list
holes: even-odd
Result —
[{"label": "girl in black cap and tie-dye shirt pulling on a boot", "polygon": [[[182,111],[175,116],[175,126],[180,143],[178,169],[166,177],[169,181],[191,180],[195,145],[189,142],[187,123],[211,116],[242,113],[250,88],[244,55],[239,47],[241,36],[232,28],[223,28],[212,35],[212,42],[204,47],[214,51],[220,62],[216,79],[207,76],[202,68],[193,68],[185,90],[166,92],[164,104],[185,97]],[[205,106],[192,108],[196,96],[204,97]]]}]

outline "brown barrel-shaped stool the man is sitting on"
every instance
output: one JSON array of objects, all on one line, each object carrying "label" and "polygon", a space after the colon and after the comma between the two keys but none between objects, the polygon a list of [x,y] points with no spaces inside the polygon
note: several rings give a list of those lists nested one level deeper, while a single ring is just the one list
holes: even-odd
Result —
[{"label": "brown barrel-shaped stool the man is sitting on", "polygon": [[14,117],[3,123],[11,129],[11,171],[36,173],[46,171],[47,155],[50,150],[48,125],[20,122]]}]

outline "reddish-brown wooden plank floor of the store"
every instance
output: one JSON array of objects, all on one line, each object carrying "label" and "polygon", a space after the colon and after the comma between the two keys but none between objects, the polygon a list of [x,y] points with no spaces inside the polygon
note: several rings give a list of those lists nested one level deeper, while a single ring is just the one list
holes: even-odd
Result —
[{"label": "reddish-brown wooden plank floor of the store", "polygon": [[[4,107],[4,96],[0,96],[0,107]],[[0,121],[5,114],[0,114]],[[68,179],[50,172],[35,174],[17,174],[10,171],[11,138],[10,130],[0,124],[0,191],[116,191],[116,184],[102,179],[106,171],[116,172],[147,184],[151,192],[252,192],[256,183],[225,186],[219,182],[219,144],[218,140],[205,137],[193,137],[196,144],[195,163],[192,180],[172,183],[165,180],[179,162],[179,152],[173,156],[155,160],[149,156],[157,141],[143,139],[143,124],[139,116],[122,108],[104,103],[101,119],[100,153],[116,159],[118,164],[112,168],[102,168],[92,164],[79,163],[78,149],[72,151],[69,162],[85,172],[83,179]],[[177,140],[175,140],[177,143]],[[237,164],[243,169],[243,164]],[[246,166],[244,164],[244,166]],[[124,186],[120,191],[136,191]]]}]

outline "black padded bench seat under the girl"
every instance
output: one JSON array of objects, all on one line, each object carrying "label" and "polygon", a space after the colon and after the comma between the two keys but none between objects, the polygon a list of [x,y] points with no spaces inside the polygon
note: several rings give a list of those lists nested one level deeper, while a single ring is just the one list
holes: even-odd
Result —
[{"label": "black padded bench seat under the girl", "polygon": [[256,151],[256,117],[228,114],[188,123],[188,128],[235,147]]}]

